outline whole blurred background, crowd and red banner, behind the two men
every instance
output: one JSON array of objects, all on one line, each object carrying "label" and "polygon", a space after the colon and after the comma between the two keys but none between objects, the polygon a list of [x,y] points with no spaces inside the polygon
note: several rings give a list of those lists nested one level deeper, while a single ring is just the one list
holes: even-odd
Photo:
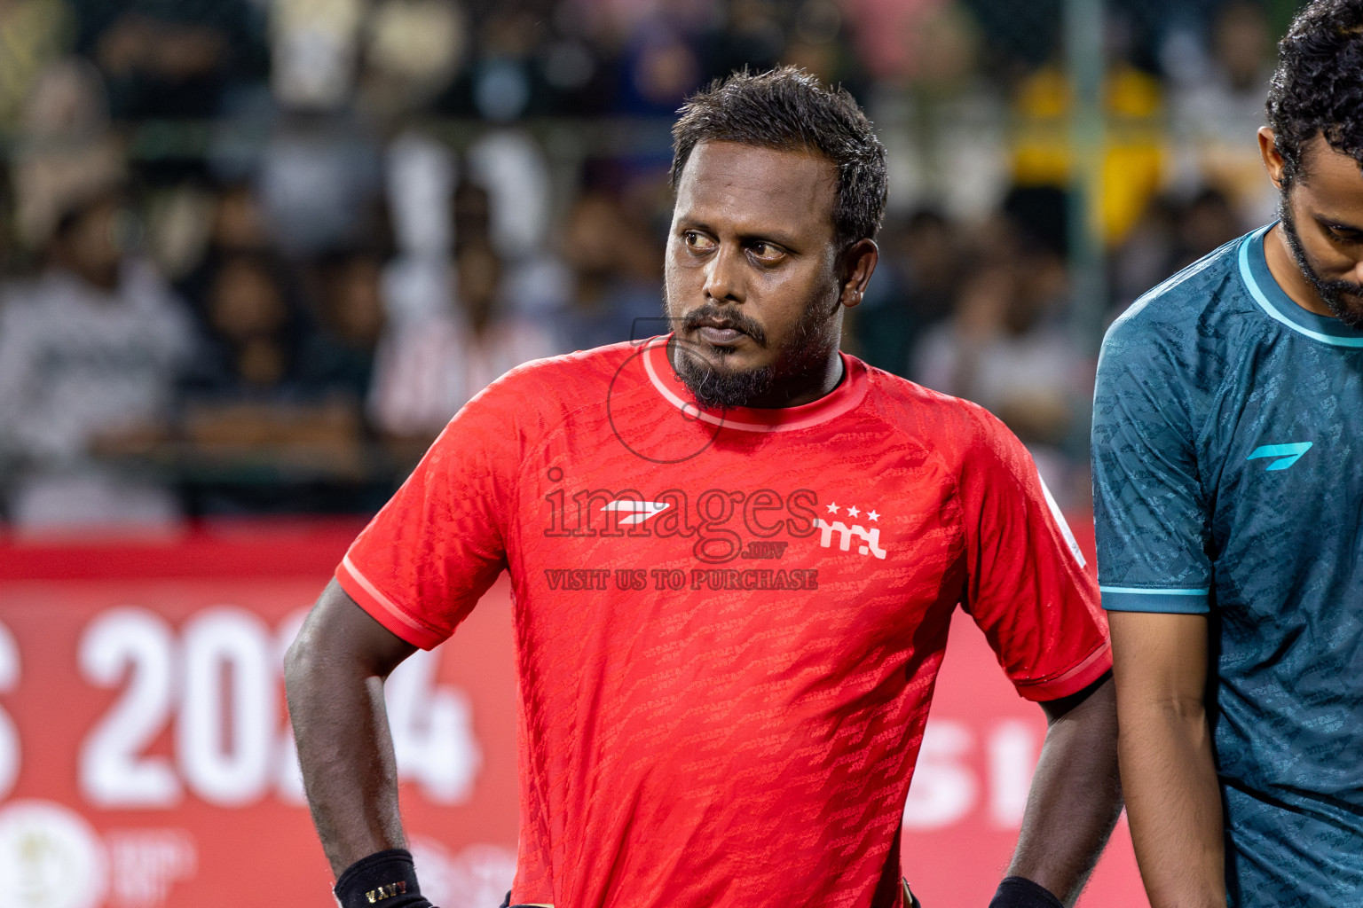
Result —
[{"label": "whole blurred background, crowd and red banner, behind the two men", "polygon": [[[1296,5],[0,0],[5,903],[330,904],[279,652],[463,400],[656,314],[671,118],[735,67],[863,102],[890,199],[846,348],[994,410],[1092,551],[1101,331],[1272,218]],[[499,587],[391,685],[443,908],[510,875],[508,649]],[[1044,731],[968,623],[949,652],[930,908],[985,904]],[[1145,905],[1123,826],[1081,905]]]}]

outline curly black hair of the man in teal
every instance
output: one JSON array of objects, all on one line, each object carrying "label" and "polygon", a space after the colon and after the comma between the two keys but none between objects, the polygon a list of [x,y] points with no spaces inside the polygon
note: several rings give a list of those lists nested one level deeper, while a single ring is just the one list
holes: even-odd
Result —
[{"label": "curly black hair of the man in teal", "polygon": [[1268,109],[1285,184],[1303,177],[1317,135],[1363,167],[1363,0],[1314,0],[1298,14],[1278,42]]}]

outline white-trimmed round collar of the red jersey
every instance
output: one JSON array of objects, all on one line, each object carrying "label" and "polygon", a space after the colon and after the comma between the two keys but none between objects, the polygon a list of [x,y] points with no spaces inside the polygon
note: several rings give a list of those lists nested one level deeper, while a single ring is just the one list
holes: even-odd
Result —
[{"label": "white-trimmed round collar of the red jersey", "polygon": [[643,351],[643,368],[649,373],[653,388],[668,404],[676,407],[692,419],[701,419],[713,426],[728,426],[740,432],[795,432],[818,426],[848,412],[866,396],[866,365],[838,351],[842,357],[842,381],[838,387],[812,403],[799,407],[733,407],[732,410],[706,410],[695,403],[695,398],[677,377],[668,359],[668,342],[672,335],[653,338]]}]

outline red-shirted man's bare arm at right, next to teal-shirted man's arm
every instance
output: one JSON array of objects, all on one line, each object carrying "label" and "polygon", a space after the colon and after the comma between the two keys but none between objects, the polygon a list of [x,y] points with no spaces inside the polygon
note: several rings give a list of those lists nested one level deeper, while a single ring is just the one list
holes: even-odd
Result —
[{"label": "red-shirted man's bare arm at right, next to teal-shirted man's arm", "polygon": [[1116,708],[1108,679],[1051,721],[1009,875],[1025,877],[1073,904],[1120,813]]}]

